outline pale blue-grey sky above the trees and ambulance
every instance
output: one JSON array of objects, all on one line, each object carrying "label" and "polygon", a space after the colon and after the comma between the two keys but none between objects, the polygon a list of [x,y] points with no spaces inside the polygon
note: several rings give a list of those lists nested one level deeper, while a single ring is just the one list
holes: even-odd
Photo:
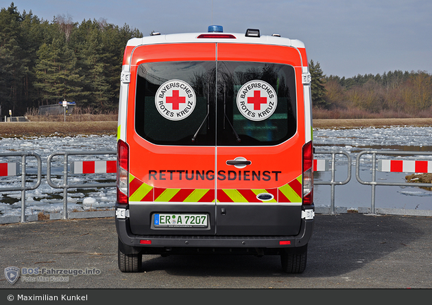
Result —
[{"label": "pale blue-grey sky above the trees and ambulance", "polygon": [[[350,78],[388,71],[432,73],[432,1],[429,0],[13,0],[19,12],[74,22],[105,19],[144,36],[206,32],[278,33],[299,39],[323,74]],[[12,0],[0,0],[8,8]]]}]

